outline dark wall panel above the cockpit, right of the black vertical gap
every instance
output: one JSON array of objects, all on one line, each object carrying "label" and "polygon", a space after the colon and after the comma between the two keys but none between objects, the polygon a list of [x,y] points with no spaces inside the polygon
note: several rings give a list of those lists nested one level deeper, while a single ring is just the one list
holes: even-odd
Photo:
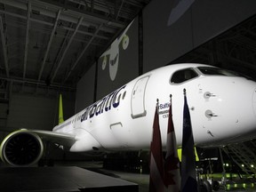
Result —
[{"label": "dark wall panel above the cockpit, right of the black vertical gap", "polygon": [[256,13],[254,0],[153,0],[143,11],[143,68],[162,67]]}]

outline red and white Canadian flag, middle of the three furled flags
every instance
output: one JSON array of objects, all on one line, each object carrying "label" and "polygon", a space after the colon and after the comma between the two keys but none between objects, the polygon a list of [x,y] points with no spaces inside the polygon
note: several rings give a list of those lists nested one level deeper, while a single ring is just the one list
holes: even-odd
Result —
[{"label": "red and white Canadian flag, middle of the three furled flags", "polygon": [[169,107],[169,119],[166,140],[166,156],[164,161],[165,191],[180,191],[180,161],[177,153],[176,136],[172,122],[172,95]]}]

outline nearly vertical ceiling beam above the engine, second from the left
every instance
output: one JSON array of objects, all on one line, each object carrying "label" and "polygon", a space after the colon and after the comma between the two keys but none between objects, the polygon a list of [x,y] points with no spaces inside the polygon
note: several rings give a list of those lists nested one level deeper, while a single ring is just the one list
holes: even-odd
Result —
[{"label": "nearly vertical ceiling beam above the engine, second from the left", "polygon": [[27,62],[28,62],[28,41],[29,41],[29,28],[30,28],[30,12],[31,2],[28,1],[28,12],[27,12],[27,29],[26,29],[26,42],[25,42],[25,54],[24,54],[24,67],[23,67],[23,78],[26,76]]}]

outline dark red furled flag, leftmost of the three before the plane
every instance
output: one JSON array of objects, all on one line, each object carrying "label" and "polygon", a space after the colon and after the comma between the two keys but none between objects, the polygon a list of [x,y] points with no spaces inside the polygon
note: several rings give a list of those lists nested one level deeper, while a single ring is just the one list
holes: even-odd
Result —
[{"label": "dark red furled flag, leftmost of the three before the plane", "polygon": [[153,136],[150,145],[150,180],[149,192],[163,192],[164,191],[164,167],[163,167],[163,153],[162,140],[159,126],[158,116],[158,100],[156,104],[156,111],[153,123]]}]

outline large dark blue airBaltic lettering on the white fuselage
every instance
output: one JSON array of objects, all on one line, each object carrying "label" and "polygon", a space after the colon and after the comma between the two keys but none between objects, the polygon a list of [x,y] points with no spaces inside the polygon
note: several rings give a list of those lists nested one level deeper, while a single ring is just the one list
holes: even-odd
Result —
[{"label": "large dark blue airBaltic lettering on the white fuselage", "polygon": [[[115,92],[111,92],[106,97],[102,98],[101,100],[93,103],[90,107],[85,108],[84,114],[81,116],[81,122],[85,121],[92,116],[99,116],[100,114],[104,113],[104,111],[109,111],[111,107],[117,108],[120,105],[120,100],[122,96],[122,90],[125,88],[126,85],[122,86]],[[125,92],[123,94],[123,100],[125,97]]]}]

